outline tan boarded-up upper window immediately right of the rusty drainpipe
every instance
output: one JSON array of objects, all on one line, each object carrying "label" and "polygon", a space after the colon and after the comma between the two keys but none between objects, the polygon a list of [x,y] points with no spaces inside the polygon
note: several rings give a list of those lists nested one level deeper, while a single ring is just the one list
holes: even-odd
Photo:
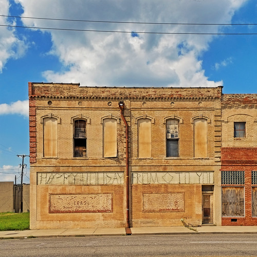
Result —
[{"label": "tan boarded-up upper window immediately right of the rusty drainpipe", "polygon": [[138,124],[138,157],[151,157],[151,120],[139,119]]}]

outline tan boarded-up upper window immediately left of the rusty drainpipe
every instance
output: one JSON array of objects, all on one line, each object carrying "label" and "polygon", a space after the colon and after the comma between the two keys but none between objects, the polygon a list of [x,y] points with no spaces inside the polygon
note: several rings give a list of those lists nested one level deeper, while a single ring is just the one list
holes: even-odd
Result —
[{"label": "tan boarded-up upper window immediately left of the rusty drainpipe", "polygon": [[103,120],[103,157],[117,157],[117,120]]}]

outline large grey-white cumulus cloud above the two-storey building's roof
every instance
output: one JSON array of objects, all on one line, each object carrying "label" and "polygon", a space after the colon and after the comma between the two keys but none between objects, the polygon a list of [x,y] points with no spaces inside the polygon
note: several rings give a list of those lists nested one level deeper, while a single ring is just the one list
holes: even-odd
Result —
[{"label": "large grey-white cumulus cloud above the two-storey building's roof", "polygon": [[[154,23],[230,23],[247,0],[68,1],[15,0],[24,16],[91,21]],[[56,11],[58,10],[58,12]],[[168,35],[139,32],[221,32],[222,26],[121,24],[24,19],[27,26],[116,30],[71,32],[49,30],[51,54],[59,57],[62,71],[46,70],[49,82],[80,82],[89,86],[217,86],[202,67],[201,54],[212,35]],[[45,31],[45,30],[44,30]]]}]

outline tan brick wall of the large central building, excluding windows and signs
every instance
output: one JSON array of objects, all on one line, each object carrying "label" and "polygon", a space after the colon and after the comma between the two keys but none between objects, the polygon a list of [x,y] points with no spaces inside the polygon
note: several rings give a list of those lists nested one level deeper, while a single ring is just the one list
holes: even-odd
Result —
[{"label": "tan brick wall of the large central building, excluding windows and signs", "polygon": [[[221,97],[222,87],[216,88],[104,88],[79,87],[79,84],[30,83],[30,227],[121,227],[126,224],[125,183],[120,185],[45,185],[39,184],[39,173],[78,174],[106,173],[107,177],[126,169],[125,127],[118,108],[119,100],[125,104],[124,116],[129,134],[129,176],[132,172],[198,172],[214,173],[214,223],[221,224],[220,197],[220,157],[221,157]],[[44,117],[58,119],[58,156],[44,157],[43,123]],[[118,155],[103,158],[104,117],[117,119]],[[82,117],[87,121],[87,156],[73,157],[73,120]],[[151,120],[151,157],[138,158],[137,120]],[[207,157],[194,157],[193,120],[204,117],[207,120]],[[166,157],[166,119],[179,120],[179,157]],[[187,175],[188,176],[188,175]],[[188,176],[190,177],[190,176]],[[65,180],[65,179],[64,179]],[[65,180],[66,181],[66,180]],[[76,180],[77,181],[77,180]],[[123,180],[125,181],[125,179]],[[77,182],[76,182],[77,183]],[[181,185],[180,185],[181,183]],[[190,185],[183,185],[189,183]],[[132,226],[182,226],[181,218],[191,224],[201,223],[201,183],[198,180],[177,181],[177,185],[132,185],[131,225]],[[163,203],[174,193],[183,193],[185,210],[177,212],[145,212],[145,199],[154,199],[152,193],[163,193]],[[192,194],[191,192],[194,192]],[[85,199],[84,194],[112,194],[113,212],[49,212],[51,194],[60,194],[68,199],[72,194],[76,199]],[[72,196],[70,196],[72,195]],[[98,197],[98,196],[97,196]],[[167,198],[168,197],[168,198]],[[65,201],[65,200],[64,200]],[[81,200],[83,202],[83,200]],[[67,204],[68,204],[67,203]],[[173,202],[172,202],[173,203]],[[65,203],[64,203],[65,204]],[[174,204],[174,203],[173,203]],[[175,205],[175,204],[174,204]],[[56,207],[54,207],[56,208]],[[75,208],[75,207],[72,207]],[[159,209],[158,209],[159,208]],[[51,209],[51,208],[50,208]],[[79,208],[78,208],[79,209]],[[104,209],[104,207],[103,207]],[[169,208],[168,208],[169,209]],[[57,210],[57,209],[54,209]],[[160,218],[161,217],[161,218]]]}]

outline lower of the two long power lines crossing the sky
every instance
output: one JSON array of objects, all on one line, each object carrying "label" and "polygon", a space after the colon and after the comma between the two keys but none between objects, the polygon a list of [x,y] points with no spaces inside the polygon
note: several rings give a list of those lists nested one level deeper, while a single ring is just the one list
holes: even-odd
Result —
[{"label": "lower of the two long power lines crossing the sky", "polygon": [[50,27],[30,27],[17,25],[2,25],[2,27],[28,28],[28,29],[49,29],[49,30],[66,30],[66,31],[85,31],[85,32],[109,32],[109,33],[136,33],[136,34],[170,34],[170,35],[257,35],[256,33],[200,33],[200,32],[151,32],[151,31],[118,31],[118,30],[97,30],[97,29],[67,29],[67,28],[50,28]]}]

